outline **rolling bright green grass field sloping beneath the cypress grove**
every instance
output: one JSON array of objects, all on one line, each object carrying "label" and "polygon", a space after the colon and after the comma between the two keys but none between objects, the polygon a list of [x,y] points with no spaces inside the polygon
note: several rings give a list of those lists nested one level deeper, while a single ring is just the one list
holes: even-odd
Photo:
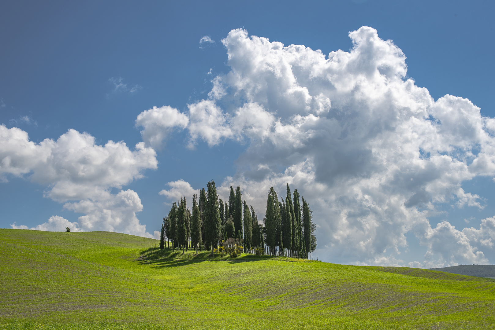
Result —
[{"label": "rolling bright green grass field sloping beneath the cypress grove", "polygon": [[495,281],[0,229],[4,329],[495,329]]}]

